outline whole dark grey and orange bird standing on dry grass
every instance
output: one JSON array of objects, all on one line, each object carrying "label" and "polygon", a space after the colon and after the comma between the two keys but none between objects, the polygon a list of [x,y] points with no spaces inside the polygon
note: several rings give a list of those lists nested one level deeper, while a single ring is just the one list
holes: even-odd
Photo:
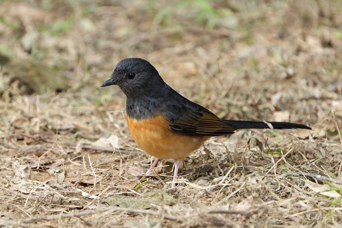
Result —
[{"label": "whole dark grey and orange bird standing on dry grass", "polygon": [[[176,187],[181,160],[213,136],[238,129],[309,129],[304,124],[221,119],[207,108],[173,90],[157,69],[142,58],[121,60],[101,87],[118,85],[127,97],[128,128],[136,144],[156,159],[173,159],[171,188]],[[146,174],[147,174],[146,173]]]}]

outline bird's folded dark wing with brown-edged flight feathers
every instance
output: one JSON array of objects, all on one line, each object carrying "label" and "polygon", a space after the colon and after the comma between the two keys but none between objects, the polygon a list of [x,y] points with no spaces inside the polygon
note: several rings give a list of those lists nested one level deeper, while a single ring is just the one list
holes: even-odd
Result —
[{"label": "bird's folded dark wing with brown-edged flight feathers", "polygon": [[168,104],[163,112],[172,131],[190,136],[219,136],[233,134],[236,128],[196,103]]}]

